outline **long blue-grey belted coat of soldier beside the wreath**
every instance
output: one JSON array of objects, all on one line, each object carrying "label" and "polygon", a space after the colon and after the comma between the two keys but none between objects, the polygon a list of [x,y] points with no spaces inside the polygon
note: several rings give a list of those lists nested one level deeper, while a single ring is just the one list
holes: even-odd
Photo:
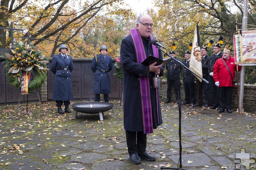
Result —
[{"label": "long blue-grey belted coat of soldier beside the wreath", "polygon": [[[57,68],[67,68],[67,71],[58,70]],[[51,64],[52,73],[55,74],[52,94],[53,100],[68,101],[73,99],[70,73],[73,69],[74,65],[70,55],[67,55],[65,59],[62,57],[61,53],[53,56]]]}]

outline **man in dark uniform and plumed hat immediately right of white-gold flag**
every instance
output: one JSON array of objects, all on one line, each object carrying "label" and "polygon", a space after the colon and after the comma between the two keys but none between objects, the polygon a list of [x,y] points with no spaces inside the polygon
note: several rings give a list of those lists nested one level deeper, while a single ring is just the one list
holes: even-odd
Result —
[{"label": "man in dark uniform and plumed hat immediately right of white-gold flag", "polygon": [[[202,62],[202,73],[203,78],[206,79],[209,82],[209,71],[208,71],[208,60],[209,56],[207,55],[208,45],[203,45],[201,48],[201,62]],[[199,105],[196,103],[193,105],[196,106],[202,106],[203,105],[203,91],[204,91],[204,99],[205,99],[205,105],[204,107],[208,108],[210,106],[210,86],[209,83],[206,83],[204,81],[200,82],[198,79],[196,80],[196,91],[197,94],[199,94]],[[199,91],[199,93],[198,93]]]}]

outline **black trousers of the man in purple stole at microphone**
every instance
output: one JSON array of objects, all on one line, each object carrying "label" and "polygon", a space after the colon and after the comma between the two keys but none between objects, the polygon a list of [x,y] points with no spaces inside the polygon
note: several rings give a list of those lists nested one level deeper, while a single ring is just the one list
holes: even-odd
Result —
[{"label": "black trousers of the man in purple stole at microphone", "polygon": [[147,134],[144,134],[143,132],[131,132],[128,130],[125,130],[125,134],[129,155],[146,151]]}]

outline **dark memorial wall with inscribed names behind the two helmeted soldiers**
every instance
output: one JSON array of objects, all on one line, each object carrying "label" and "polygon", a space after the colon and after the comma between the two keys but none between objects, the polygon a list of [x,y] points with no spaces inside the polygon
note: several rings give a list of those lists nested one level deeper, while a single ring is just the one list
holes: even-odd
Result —
[{"label": "dark memorial wall with inscribed names behind the two helmeted soldiers", "polygon": [[[0,104],[17,103],[28,101],[39,101],[39,91],[29,92],[29,96],[21,95],[20,90],[9,85],[6,77],[6,70],[4,60],[0,59]],[[51,62],[51,59],[49,59]],[[115,61],[113,61],[114,64]],[[95,94],[93,93],[94,73],[90,68],[91,59],[73,59],[74,70],[71,72],[72,88],[74,99],[76,100],[94,100]],[[51,63],[48,64],[49,68]],[[121,99],[122,98],[122,81],[114,75],[116,73],[113,67],[111,74],[111,93],[109,94],[110,99]],[[47,77],[47,100],[52,101],[53,85],[55,75],[49,69]],[[38,94],[37,94],[38,93]]]}]

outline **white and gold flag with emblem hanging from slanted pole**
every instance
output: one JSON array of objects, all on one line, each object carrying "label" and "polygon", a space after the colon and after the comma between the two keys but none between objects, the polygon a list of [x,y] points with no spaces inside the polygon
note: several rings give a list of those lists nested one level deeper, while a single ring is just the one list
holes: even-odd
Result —
[{"label": "white and gold flag with emblem hanging from slanted pole", "polygon": [[[194,71],[201,78],[203,77],[198,23],[196,24],[196,27],[195,27],[195,34],[194,34],[193,46],[191,49],[191,59],[189,62],[189,69]],[[200,82],[202,82],[202,79],[198,78],[197,76],[195,77]]]}]

